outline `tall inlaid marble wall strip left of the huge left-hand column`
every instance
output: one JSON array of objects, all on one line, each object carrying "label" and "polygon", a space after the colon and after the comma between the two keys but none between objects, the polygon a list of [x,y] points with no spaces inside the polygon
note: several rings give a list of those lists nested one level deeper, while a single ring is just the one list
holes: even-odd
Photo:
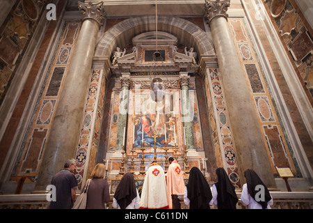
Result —
[{"label": "tall inlaid marble wall strip left of the huge left-hand column", "polygon": [[[61,91],[63,79],[66,77],[72,47],[74,47],[76,41],[76,39],[72,39],[72,42],[69,42],[69,38],[66,35],[73,24],[75,27],[80,27],[80,23],[78,22],[64,22],[63,29],[58,34],[60,41],[55,49],[54,59],[50,61],[51,68],[46,74],[47,82],[42,86],[42,93],[40,93],[40,98],[38,98],[38,107],[33,111],[34,121],[25,136],[25,143],[20,149],[20,153],[24,155],[20,155],[16,165],[18,166],[19,163],[22,163],[22,165],[19,165],[17,170],[13,171],[12,175],[23,175],[26,174],[26,170],[30,169],[32,176],[38,174],[41,159],[45,152],[46,137],[49,134],[51,123],[54,119],[54,111],[58,105],[59,91]],[[63,45],[65,36],[67,36],[66,46]],[[77,38],[77,36],[74,37]],[[69,45],[69,43],[73,45]],[[84,140],[86,140],[86,137],[81,137],[81,141]]]}]

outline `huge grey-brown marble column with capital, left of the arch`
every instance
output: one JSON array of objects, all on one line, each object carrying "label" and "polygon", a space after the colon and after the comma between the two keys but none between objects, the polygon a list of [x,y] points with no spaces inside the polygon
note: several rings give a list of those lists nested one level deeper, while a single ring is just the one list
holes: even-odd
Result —
[{"label": "huge grey-brown marble column with capital, left of the arch", "polygon": [[46,190],[51,178],[75,157],[83,107],[90,80],[99,27],[104,22],[103,2],[79,2],[83,22],[51,125],[35,192]]}]

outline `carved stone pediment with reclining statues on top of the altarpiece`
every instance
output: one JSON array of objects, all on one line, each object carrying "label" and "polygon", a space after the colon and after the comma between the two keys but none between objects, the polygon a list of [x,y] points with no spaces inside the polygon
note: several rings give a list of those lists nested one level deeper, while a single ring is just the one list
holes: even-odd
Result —
[{"label": "carved stone pediment with reclining statues on top of the altarpiece", "polygon": [[[154,32],[141,33],[133,38],[131,44],[117,46],[113,52],[111,71],[120,76],[121,72],[198,70],[197,52],[194,48],[177,45],[177,38],[165,32],[159,33],[162,38],[159,40],[158,51],[162,55],[162,63],[156,63],[153,60],[153,52],[156,49],[155,35]],[[123,48],[125,49],[122,50]]]}]

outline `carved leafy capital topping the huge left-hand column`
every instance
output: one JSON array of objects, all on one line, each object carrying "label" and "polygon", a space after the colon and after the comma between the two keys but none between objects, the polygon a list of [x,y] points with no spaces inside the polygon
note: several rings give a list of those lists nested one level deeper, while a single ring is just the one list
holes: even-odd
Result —
[{"label": "carved leafy capital topping the huge left-hand column", "polygon": [[91,1],[85,3],[79,1],[78,4],[79,10],[83,15],[82,20],[93,19],[98,22],[99,26],[102,26],[104,18],[106,16],[103,1],[99,1],[98,3],[92,3]]}]

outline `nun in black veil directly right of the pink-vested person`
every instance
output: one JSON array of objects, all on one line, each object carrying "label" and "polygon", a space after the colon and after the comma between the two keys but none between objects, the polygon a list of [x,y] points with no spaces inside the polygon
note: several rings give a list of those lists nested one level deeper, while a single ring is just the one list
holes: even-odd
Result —
[{"label": "nun in black veil directly right of the pink-vested person", "polygon": [[190,170],[188,184],[185,187],[184,203],[190,209],[210,209],[213,196],[209,183],[197,167]]}]

